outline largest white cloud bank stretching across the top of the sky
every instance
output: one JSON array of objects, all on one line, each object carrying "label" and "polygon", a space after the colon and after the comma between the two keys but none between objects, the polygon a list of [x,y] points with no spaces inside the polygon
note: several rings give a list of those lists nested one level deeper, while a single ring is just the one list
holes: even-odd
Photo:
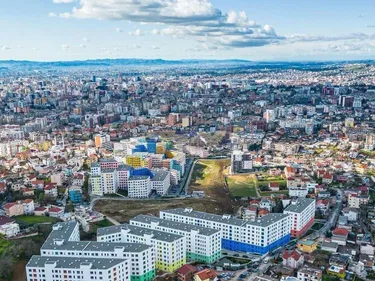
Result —
[{"label": "largest white cloud bank stretching across the top of the sky", "polygon": [[[209,0],[80,0],[68,14],[64,17],[166,24],[168,27],[152,34],[189,36],[197,41],[204,37],[224,46],[263,46],[285,39],[271,26],[250,20],[244,11],[225,14]],[[141,32],[130,34],[139,36]]]}]

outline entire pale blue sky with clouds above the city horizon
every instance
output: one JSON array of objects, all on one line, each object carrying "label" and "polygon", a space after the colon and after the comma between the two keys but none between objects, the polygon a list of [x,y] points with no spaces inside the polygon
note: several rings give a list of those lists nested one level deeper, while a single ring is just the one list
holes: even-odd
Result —
[{"label": "entire pale blue sky with clouds above the city horizon", "polygon": [[373,0],[1,0],[0,60],[375,59]]}]

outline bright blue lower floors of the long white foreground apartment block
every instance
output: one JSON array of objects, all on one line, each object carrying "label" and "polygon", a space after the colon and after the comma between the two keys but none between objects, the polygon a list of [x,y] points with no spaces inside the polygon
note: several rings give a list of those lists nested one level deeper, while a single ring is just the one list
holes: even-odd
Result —
[{"label": "bright blue lower floors of the long white foreground apartment block", "polygon": [[226,250],[235,251],[235,252],[246,252],[246,253],[258,253],[266,254],[274,249],[277,249],[280,246],[287,244],[290,241],[290,234],[280,238],[279,240],[271,243],[268,246],[256,246],[252,244],[247,244],[243,242],[233,241],[229,239],[221,239],[221,247]]}]

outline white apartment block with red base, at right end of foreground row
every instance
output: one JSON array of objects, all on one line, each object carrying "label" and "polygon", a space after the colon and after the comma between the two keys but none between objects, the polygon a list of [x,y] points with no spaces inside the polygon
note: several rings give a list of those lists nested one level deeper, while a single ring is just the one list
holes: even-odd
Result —
[{"label": "white apartment block with red base, at right end of foreground row", "polygon": [[292,220],[291,235],[299,237],[314,223],[315,199],[298,198],[285,208],[284,214],[289,215]]}]

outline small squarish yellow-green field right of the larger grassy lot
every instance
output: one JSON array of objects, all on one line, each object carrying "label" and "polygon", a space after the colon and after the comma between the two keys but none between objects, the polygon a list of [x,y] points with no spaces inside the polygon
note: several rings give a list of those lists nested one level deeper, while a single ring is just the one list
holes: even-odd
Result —
[{"label": "small squarish yellow-green field right of the larger grassy lot", "polygon": [[230,194],[234,197],[258,197],[254,175],[233,175],[226,178]]}]

